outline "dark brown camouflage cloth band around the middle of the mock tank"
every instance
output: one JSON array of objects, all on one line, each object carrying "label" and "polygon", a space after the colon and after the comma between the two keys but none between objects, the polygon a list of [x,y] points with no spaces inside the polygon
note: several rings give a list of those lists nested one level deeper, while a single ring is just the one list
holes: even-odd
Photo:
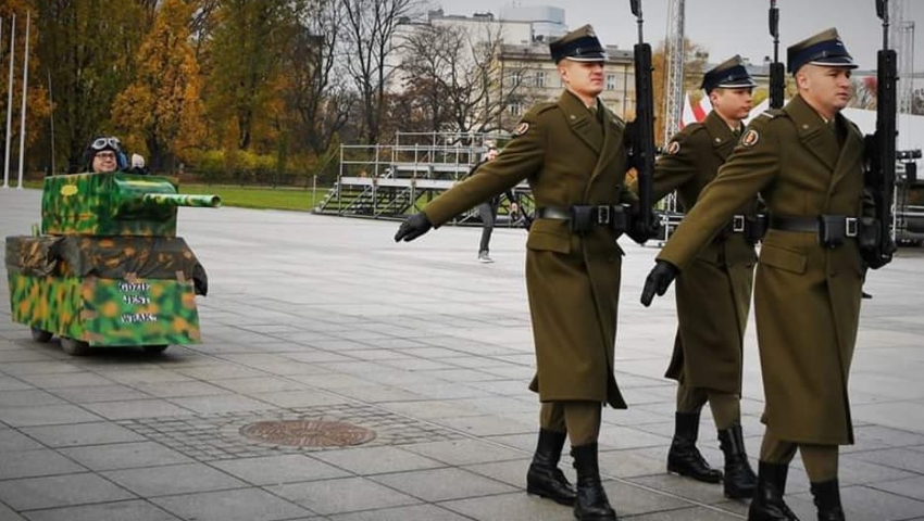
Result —
[{"label": "dark brown camouflage cloth band around the middle of the mock tank", "polygon": [[30,276],[192,280],[198,294],[209,279],[179,237],[15,236],[7,238],[7,271]]}]

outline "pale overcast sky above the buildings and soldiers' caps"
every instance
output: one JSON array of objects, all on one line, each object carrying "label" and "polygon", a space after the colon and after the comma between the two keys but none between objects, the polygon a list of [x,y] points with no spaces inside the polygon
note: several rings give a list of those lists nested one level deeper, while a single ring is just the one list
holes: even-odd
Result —
[{"label": "pale overcast sky above the buildings and soldiers' caps", "polygon": [[[565,24],[574,29],[594,25],[604,45],[632,49],[638,38],[629,0],[430,0],[446,14],[471,16],[474,12],[499,11],[516,5],[553,5],[565,10]],[[891,0],[896,3],[898,0]],[[904,20],[920,22],[914,36],[914,71],[924,72],[924,0],[900,0]],[[641,0],[645,39],[657,47],[667,29],[667,0]],[[786,61],[786,47],[828,27],[837,27],[848,51],[864,69],[876,68],[876,51],[882,47],[882,23],[875,0],[777,0],[779,8],[779,56]],[[741,54],[761,63],[773,53],[769,33],[767,0],[686,0],[685,34],[704,47],[710,62]],[[916,27],[915,27],[916,33]],[[901,63],[901,58],[899,58]],[[924,78],[915,79],[915,88]]]}]

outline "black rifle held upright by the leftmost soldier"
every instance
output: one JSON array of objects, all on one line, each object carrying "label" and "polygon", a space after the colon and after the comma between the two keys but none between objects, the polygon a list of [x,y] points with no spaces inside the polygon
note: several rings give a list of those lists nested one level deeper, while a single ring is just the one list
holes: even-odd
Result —
[{"label": "black rifle held upright by the leftmost soldier", "polygon": [[654,175],[654,102],[651,88],[651,46],[642,36],[641,0],[629,0],[632,14],[638,23],[638,43],[633,48],[635,58],[635,122],[629,135],[629,164],[638,175],[639,223],[638,228],[651,237],[658,224],[651,211],[651,178]]}]

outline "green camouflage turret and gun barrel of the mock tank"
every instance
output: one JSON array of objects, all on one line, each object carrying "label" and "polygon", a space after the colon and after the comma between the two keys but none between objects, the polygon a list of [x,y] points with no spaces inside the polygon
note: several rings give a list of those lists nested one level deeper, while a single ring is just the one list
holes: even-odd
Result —
[{"label": "green camouflage turret and gun barrel of the mock tank", "polygon": [[176,237],[178,206],[221,205],[217,195],[180,195],[166,177],[125,173],[45,178],[41,230],[52,236]]}]

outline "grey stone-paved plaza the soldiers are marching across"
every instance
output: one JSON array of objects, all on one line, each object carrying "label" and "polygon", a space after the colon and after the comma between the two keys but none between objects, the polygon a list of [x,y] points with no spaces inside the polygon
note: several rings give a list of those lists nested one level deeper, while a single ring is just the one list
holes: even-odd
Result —
[{"label": "grey stone-paved plaza the soldiers are marching across", "polygon": [[[0,189],[0,236],[27,234],[40,192]],[[209,274],[203,343],[71,357],[10,320],[0,278],[0,520],[567,521],[527,496],[538,403],[522,229],[396,244],[397,223],[241,208],[182,208]],[[658,253],[626,251],[616,380],[601,471],[620,519],[740,520],[721,485],[665,472],[675,385],[662,378],[673,293],[638,303]],[[857,443],[842,447],[850,521],[924,520],[924,250],[872,272],[850,380]],[[762,385],[748,330],[744,431],[757,468]],[[283,445],[261,422],[346,422],[365,443]],[[278,424],[278,423],[277,423]],[[259,429],[257,429],[259,430]],[[364,437],[363,437],[363,433]],[[362,441],[360,440],[360,441]],[[722,463],[703,414],[700,447]],[[562,468],[573,480],[571,458]],[[815,519],[801,462],[787,500]]]}]

